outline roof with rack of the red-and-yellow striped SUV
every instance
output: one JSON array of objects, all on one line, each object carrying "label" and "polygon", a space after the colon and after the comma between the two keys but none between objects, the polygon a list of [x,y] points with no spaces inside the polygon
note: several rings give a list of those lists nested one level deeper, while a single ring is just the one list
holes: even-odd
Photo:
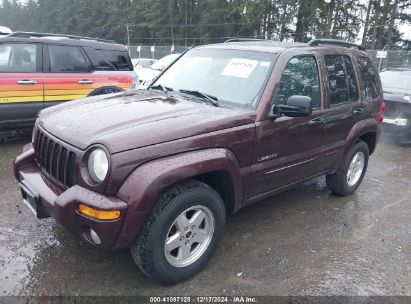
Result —
[{"label": "roof with rack of the red-and-yellow striped SUV", "polygon": [[0,43],[2,42],[29,42],[29,43],[42,43],[42,44],[58,44],[67,46],[83,46],[91,47],[97,50],[107,50],[107,51],[126,51],[126,47],[121,44],[112,42],[101,42],[92,39],[71,39],[67,37],[10,37],[10,36],[0,36]]}]

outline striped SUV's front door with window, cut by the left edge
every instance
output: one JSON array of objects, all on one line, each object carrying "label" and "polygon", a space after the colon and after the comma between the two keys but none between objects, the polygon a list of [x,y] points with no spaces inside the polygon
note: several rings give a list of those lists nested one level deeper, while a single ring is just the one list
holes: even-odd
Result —
[{"label": "striped SUV's front door with window, cut by the left edge", "polygon": [[42,47],[0,43],[0,129],[30,126],[43,108]]}]

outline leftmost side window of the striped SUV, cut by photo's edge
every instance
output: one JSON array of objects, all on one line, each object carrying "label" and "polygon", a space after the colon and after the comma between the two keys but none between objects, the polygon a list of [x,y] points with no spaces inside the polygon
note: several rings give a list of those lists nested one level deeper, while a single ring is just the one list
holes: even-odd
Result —
[{"label": "leftmost side window of the striped SUV, cut by photo's edge", "polygon": [[1,73],[34,73],[36,67],[36,45],[25,43],[0,45]]}]

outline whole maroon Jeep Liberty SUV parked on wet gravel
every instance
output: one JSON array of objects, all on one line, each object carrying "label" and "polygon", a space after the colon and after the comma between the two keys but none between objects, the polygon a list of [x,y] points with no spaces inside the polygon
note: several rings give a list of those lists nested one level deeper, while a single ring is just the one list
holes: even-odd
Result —
[{"label": "whole maroon Jeep Liberty SUV parked on wet gravel", "polygon": [[198,273],[239,208],[326,175],[350,195],[384,103],[361,47],[233,39],[190,49],[146,90],[41,111],[15,161],[23,199],[163,284]]}]

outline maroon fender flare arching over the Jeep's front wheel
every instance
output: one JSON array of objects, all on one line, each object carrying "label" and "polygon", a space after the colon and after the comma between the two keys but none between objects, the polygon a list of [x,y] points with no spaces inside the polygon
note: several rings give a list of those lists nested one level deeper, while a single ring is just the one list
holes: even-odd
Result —
[{"label": "maroon fender flare arching over the Jeep's front wheel", "polygon": [[170,185],[201,174],[225,171],[232,180],[234,208],[243,199],[243,182],[239,162],[228,149],[216,148],[186,152],[156,159],[136,168],[117,192],[124,200],[127,214],[114,248],[129,246],[157,202],[160,194]]}]

